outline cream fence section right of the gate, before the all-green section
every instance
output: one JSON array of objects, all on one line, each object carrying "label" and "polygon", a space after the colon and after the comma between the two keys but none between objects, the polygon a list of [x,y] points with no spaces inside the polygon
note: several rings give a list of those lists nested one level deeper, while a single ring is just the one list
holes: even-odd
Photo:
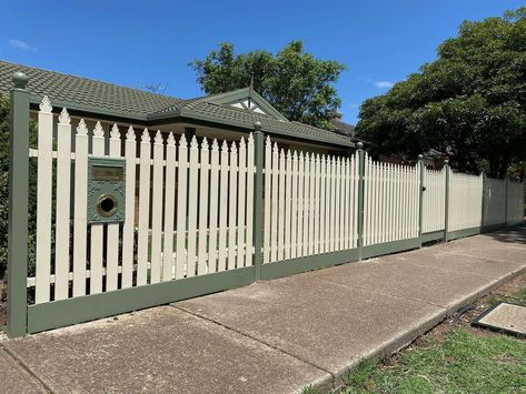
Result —
[{"label": "cream fence section right of the gate, before the all-green section", "polygon": [[[450,171],[450,170],[449,170]],[[448,231],[480,228],[483,224],[483,175],[449,173]]]}]

